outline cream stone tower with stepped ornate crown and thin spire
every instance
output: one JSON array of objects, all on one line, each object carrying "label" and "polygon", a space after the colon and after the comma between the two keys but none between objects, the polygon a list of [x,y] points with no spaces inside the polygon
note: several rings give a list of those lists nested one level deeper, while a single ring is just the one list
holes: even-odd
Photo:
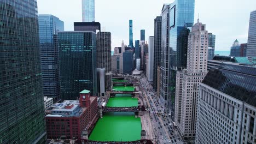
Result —
[{"label": "cream stone tower with stepped ornate crown and thin spire", "polygon": [[199,83],[207,74],[207,51],[208,32],[197,20],[189,33],[187,69],[176,74],[174,120],[183,139],[195,139],[197,94]]}]

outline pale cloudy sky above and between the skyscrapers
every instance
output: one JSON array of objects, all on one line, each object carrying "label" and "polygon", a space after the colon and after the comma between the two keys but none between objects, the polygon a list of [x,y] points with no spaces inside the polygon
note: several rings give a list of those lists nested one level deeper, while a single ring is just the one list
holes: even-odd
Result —
[{"label": "pale cloudy sky above and between the skyscrapers", "polygon": [[[154,35],[154,19],[162,4],[173,0],[95,0],[96,21],[112,33],[112,48],[129,43],[129,20],[133,20],[133,40],[146,29],[146,40]],[[195,0],[197,14],[208,32],[216,34],[216,50],[229,51],[237,39],[247,43],[249,15],[256,10],[255,0]],[[39,14],[52,14],[64,21],[65,31],[73,31],[73,22],[82,21],[82,0],[38,0]],[[133,42],[134,43],[134,42]]]}]

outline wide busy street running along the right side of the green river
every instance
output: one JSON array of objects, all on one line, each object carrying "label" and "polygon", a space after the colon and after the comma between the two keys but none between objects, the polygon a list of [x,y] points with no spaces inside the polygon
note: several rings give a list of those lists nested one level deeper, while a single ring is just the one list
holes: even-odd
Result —
[{"label": "wide busy street running along the right side of the green river", "polygon": [[171,117],[164,112],[163,104],[160,103],[159,97],[156,97],[156,92],[147,81],[147,77],[141,75],[136,76],[136,79],[143,94],[143,103],[146,104],[147,111],[150,113],[156,143],[185,143],[174,128]]}]

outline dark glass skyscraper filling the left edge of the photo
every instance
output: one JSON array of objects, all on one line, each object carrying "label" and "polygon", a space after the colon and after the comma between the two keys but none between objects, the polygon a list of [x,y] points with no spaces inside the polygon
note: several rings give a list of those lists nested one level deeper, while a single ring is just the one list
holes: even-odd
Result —
[{"label": "dark glass skyscraper filling the left edge of the photo", "polygon": [[45,143],[37,1],[0,1],[0,143]]}]

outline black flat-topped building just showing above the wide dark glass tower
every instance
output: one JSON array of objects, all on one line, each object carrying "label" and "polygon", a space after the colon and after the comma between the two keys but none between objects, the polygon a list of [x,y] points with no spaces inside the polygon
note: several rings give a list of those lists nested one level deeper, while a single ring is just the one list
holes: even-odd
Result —
[{"label": "black flat-topped building just showing above the wide dark glass tower", "polygon": [[101,31],[100,22],[74,22],[74,31]]}]

